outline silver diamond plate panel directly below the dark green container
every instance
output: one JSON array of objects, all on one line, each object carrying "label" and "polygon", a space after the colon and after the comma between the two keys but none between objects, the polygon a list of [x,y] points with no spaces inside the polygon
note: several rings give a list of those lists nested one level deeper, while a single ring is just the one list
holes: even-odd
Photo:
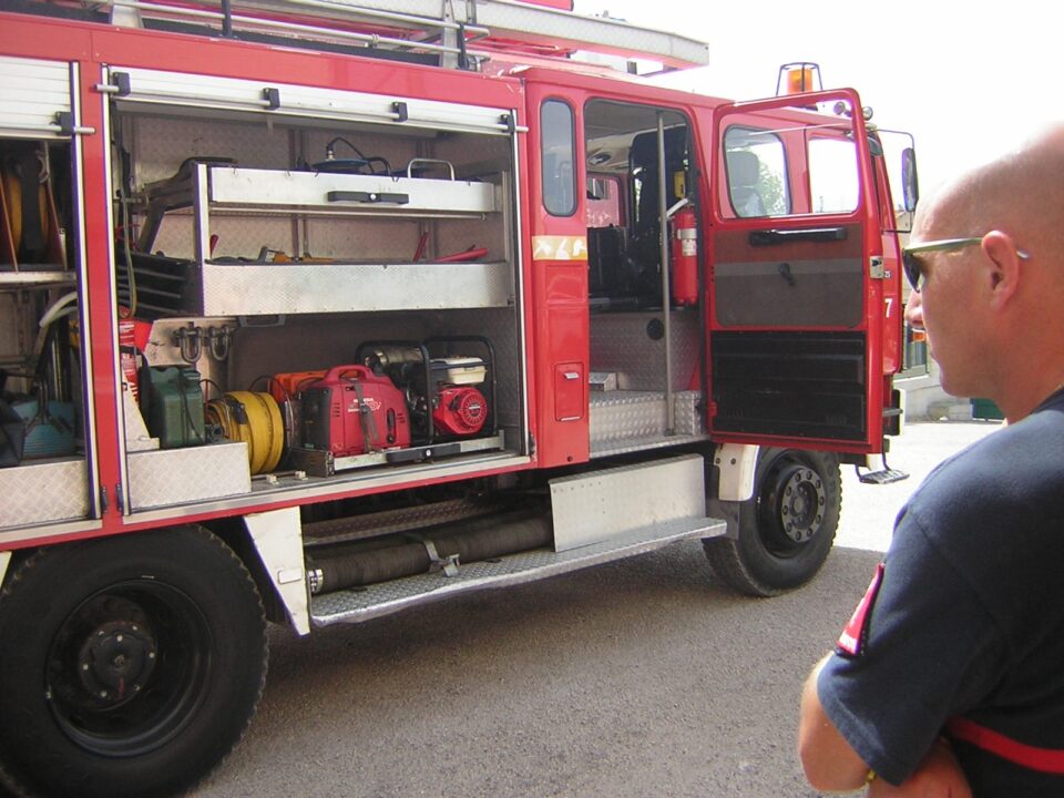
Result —
[{"label": "silver diamond plate panel directly below the dark green container", "polygon": [[212,443],[187,449],[131,452],[133,510],[184,504],[249,493],[247,443]]}]

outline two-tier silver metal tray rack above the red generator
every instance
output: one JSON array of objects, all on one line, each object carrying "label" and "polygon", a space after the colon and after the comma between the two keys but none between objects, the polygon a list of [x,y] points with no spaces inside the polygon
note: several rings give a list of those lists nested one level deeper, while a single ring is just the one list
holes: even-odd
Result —
[{"label": "two-tier silver metal tray rack above the red generator", "polygon": [[[190,163],[174,178],[145,190],[147,219],[139,249],[150,252],[165,215],[192,213],[196,250],[209,250],[211,217],[327,215],[424,219],[483,218],[500,224],[492,183],[371,174],[239,168]],[[505,260],[272,263],[149,258],[134,270],[147,294],[165,298],[164,313],[255,316],[378,310],[442,310],[513,304]],[[168,270],[167,270],[168,269]],[[156,290],[157,289],[157,290]]]}]

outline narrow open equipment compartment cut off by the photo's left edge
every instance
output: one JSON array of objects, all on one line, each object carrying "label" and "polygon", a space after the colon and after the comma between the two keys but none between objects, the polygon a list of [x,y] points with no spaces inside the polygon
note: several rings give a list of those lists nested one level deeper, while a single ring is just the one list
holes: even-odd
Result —
[{"label": "narrow open equipment compartment cut off by the photo's left edge", "polygon": [[0,529],[94,512],[75,76],[0,58]]}]

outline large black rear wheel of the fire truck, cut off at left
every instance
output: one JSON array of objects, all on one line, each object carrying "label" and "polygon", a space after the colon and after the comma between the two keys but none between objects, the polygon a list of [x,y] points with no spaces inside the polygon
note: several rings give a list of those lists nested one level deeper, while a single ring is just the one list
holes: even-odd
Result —
[{"label": "large black rear wheel of the fire truck, cut off at left", "polygon": [[44,796],[187,789],[266,677],[255,583],[201,528],[35,552],[0,594],[0,768]]}]

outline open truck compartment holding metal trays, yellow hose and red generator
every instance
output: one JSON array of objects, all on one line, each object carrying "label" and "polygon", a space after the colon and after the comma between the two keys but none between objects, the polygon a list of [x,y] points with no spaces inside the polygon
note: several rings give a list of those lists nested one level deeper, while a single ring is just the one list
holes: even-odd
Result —
[{"label": "open truck compartment holding metal trays, yellow hose and red generator", "polygon": [[[206,424],[178,437],[182,457],[232,471],[233,456],[223,466],[217,443],[246,443],[250,475],[260,479],[237,475],[227,488],[234,494],[308,479],[380,479],[388,469],[408,475],[444,457],[526,453],[515,131],[500,121],[509,112],[449,104],[438,119],[439,103],[421,103],[420,112],[409,101],[401,124],[370,122],[357,109],[381,99],[318,91],[332,109],[328,119],[310,109],[264,125],[260,109],[188,104],[219,83],[232,95],[241,81],[180,82],[180,94],[165,96],[177,79],[132,75],[133,90],[112,102],[112,161],[115,217],[129,231],[116,242],[115,278],[140,329],[139,375],[155,381],[180,369],[202,395]],[[351,119],[338,120],[337,105],[355,108]],[[448,341],[449,358],[480,360],[492,386],[509,386],[481,393],[490,424],[459,423],[444,441],[397,436],[411,413],[424,416],[416,403],[468,402],[478,390],[439,382],[428,399],[409,386],[383,391],[392,398],[378,429],[368,408],[380,392],[362,390],[371,382],[382,390],[390,378],[379,366],[367,370],[360,345],[408,339]],[[317,413],[357,417],[347,419],[346,444],[305,440],[301,391],[317,391]],[[201,397],[192,399],[176,403],[171,423],[188,426],[200,412]],[[274,402],[276,412],[257,408]],[[467,417],[469,408],[479,403]],[[127,440],[139,436],[127,426]],[[174,457],[146,447],[131,453],[131,468]],[[213,498],[192,485],[175,495],[171,485],[160,499],[133,474],[137,483],[146,492],[131,498],[134,509]]]}]

